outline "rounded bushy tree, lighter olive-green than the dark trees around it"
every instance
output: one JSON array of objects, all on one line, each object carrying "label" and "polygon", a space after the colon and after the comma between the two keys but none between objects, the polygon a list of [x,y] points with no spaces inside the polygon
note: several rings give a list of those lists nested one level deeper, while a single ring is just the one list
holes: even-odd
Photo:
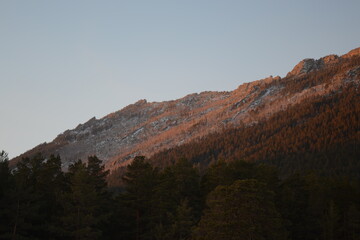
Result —
[{"label": "rounded bushy tree, lighter olive-green than the dark trees around it", "polygon": [[195,239],[286,239],[282,219],[273,202],[274,193],[254,180],[237,180],[218,186],[207,199]]}]

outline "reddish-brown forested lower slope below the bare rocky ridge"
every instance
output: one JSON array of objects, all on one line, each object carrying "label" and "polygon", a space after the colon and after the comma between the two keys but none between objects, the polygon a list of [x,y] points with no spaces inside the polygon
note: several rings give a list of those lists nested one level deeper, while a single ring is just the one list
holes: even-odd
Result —
[{"label": "reddish-brown forested lower slope below the bare rocky ridge", "polygon": [[280,111],[258,124],[225,129],[163,150],[149,160],[161,168],[186,158],[201,169],[219,160],[275,164],[282,173],[360,177],[360,94],[352,84]]}]

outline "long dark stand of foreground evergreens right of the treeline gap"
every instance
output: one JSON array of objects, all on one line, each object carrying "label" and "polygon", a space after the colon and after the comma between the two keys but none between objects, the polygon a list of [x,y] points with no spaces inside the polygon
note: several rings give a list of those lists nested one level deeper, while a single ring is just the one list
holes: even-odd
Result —
[{"label": "long dark stand of foreground evergreens right of the treeline gap", "polygon": [[201,177],[185,159],[159,170],[137,158],[124,190],[120,239],[359,238],[356,179],[311,173],[280,181],[274,167],[243,161],[218,162]]}]

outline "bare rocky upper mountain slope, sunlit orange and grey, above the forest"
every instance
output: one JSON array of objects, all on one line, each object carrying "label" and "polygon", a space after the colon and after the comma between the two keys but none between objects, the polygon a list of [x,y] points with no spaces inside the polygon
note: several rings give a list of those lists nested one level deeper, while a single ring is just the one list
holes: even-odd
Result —
[{"label": "bare rocky upper mountain slope, sunlit orange and grey, above the forest", "polygon": [[[152,154],[229,126],[256,124],[260,119],[285,110],[313,96],[339,91],[344,84],[359,85],[360,66],[346,65],[360,58],[360,48],[341,57],[305,59],[286,78],[269,77],[245,83],[231,92],[202,92],[166,102],[140,100],[101,119],[92,118],[13,160],[36,152],[59,154],[66,169],[77,159],[97,155],[106,168],[126,165],[136,155]],[[298,84],[299,76],[343,66],[336,74],[317,83]],[[340,68],[339,68],[340,69]]]}]

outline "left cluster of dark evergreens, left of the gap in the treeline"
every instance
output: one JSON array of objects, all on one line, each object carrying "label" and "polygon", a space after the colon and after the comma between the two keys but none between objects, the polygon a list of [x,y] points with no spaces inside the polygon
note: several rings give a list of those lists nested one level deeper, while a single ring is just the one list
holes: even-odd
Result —
[{"label": "left cluster of dark evergreens, left of the gap in the treeline", "polygon": [[66,174],[55,156],[24,158],[12,173],[1,159],[0,239],[100,239],[110,195],[96,159]]}]

